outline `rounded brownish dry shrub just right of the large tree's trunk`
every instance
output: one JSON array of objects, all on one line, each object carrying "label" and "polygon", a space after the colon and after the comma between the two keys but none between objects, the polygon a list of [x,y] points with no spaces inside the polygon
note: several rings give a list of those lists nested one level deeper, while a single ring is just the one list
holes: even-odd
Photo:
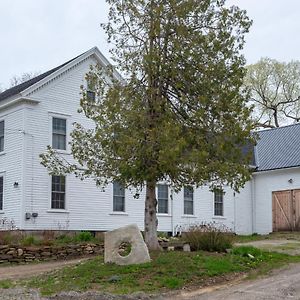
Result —
[{"label": "rounded brownish dry shrub just right of the large tree's trunk", "polygon": [[194,251],[225,252],[233,245],[232,231],[225,225],[215,222],[191,225],[183,237]]}]

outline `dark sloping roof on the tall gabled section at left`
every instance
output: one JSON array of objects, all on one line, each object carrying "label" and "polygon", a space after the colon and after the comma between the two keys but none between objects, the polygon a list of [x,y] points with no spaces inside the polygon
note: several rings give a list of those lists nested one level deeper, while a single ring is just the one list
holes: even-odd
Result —
[{"label": "dark sloping roof on the tall gabled section at left", "polygon": [[[86,51],[88,52],[88,51]],[[62,65],[58,66],[58,67],[55,67],[43,74],[40,74],[34,78],[31,78],[25,82],[22,82],[21,84],[18,84],[8,90],[5,90],[4,92],[0,93],[0,101],[3,101],[7,98],[10,98],[12,96],[15,96],[19,93],[21,93],[22,91],[26,90],[27,88],[31,87],[32,85],[34,85],[35,83],[41,81],[42,79],[46,78],[47,76],[51,75],[52,73],[58,71],[59,69],[63,68],[64,66],[66,66],[67,64],[69,64],[70,62],[74,61],[75,59],[77,59],[78,57],[84,55],[86,52],[72,58],[71,60],[63,63]]]}]

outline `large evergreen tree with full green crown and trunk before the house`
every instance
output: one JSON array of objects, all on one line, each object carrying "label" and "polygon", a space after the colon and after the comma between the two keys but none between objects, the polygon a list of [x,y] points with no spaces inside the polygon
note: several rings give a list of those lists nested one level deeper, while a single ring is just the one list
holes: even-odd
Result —
[{"label": "large evergreen tree with full green crown and trunk before the house", "polygon": [[146,188],[145,241],[158,249],[156,183],[229,184],[249,179],[241,147],[250,139],[240,50],[251,21],[222,0],[107,0],[103,27],[115,63],[92,68],[82,88],[81,111],[95,122],[75,124],[66,163],[49,147],[42,163],[51,173],[74,172],[98,185],[119,181]]}]

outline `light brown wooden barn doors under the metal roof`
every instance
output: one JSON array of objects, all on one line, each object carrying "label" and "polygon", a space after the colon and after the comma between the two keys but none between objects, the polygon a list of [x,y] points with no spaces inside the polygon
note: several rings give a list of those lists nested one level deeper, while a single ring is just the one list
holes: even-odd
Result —
[{"label": "light brown wooden barn doors under the metal roof", "polygon": [[273,192],[273,231],[300,230],[300,190]]}]

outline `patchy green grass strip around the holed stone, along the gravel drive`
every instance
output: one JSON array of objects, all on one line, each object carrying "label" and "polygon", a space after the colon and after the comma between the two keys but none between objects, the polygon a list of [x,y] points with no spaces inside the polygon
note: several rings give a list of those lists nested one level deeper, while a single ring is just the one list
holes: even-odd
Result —
[{"label": "patchy green grass strip around the holed stone, along the gravel drive", "polygon": [[158,293],[186,285],[203,285],[211,277],[238,272],[251,273],[255,270],[253,276],[287,263],[300,262],[299,256],[264,252],[253,247],[234,248],[230,254],[172,251],[152,253],[151,256],[152,262],[131,266],[104,264],[103,257],[97,257],[28,280],[0,281],[0,287],[39,288],[43,295],[90,289],[115,294],[137,291]]}]

